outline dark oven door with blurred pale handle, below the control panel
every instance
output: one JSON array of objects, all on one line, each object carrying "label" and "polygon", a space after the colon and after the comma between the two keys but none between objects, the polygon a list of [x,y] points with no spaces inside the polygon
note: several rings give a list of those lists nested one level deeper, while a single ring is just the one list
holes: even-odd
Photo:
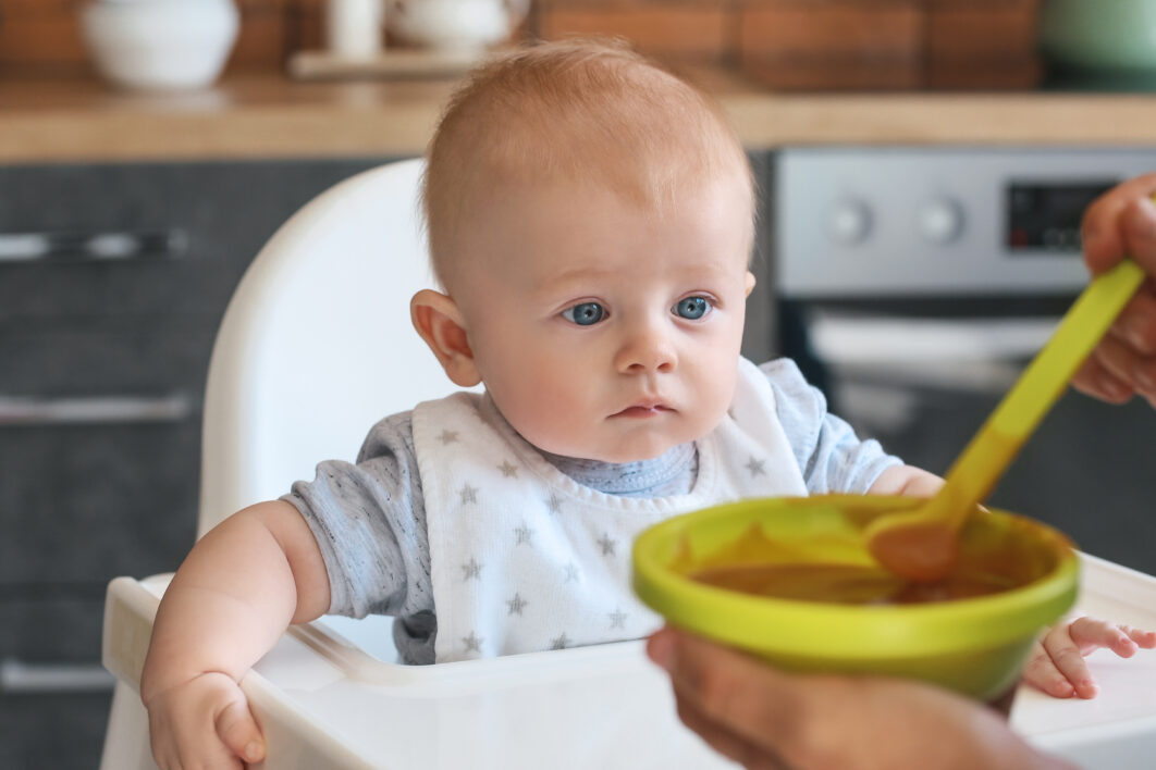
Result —
[{"label": "dark oven door with blurred pale handle, below the control panel", "polygon": [[[784,304],[784,353],[831,411],[905,462],[943,474],[1064,312],[999,317]],[[793,334],[792,334],[793,330]],[[1156,573],[1156,410],[1069,390],[990,504],[1045,521],[1082,550]]]}]

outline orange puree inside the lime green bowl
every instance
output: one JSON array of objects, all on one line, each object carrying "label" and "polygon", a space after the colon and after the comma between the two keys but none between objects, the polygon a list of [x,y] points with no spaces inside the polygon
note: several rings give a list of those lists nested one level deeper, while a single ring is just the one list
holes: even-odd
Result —
[{"label": "orange puree inside the lime green bowl", "polygon": [[741,565],[689,575],[716,588],[778,599],[832,604],[920,604],[999,593],[1018,583],[990,574],[953,574],[933,583],[910,582],[859,565]]}]

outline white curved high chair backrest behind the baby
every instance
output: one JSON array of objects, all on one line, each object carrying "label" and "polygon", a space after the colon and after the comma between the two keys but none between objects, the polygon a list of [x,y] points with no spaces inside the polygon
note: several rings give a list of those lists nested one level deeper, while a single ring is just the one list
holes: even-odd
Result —
[{"label": "white curved high chair backrest behind the baby", "polygon": [[245,506],[353,461],[383,417],[454,387],[414,331],[433,286],[421,227],[424,164],[326,190],[269,239],[237,286],[205,393],[198,537]]}]

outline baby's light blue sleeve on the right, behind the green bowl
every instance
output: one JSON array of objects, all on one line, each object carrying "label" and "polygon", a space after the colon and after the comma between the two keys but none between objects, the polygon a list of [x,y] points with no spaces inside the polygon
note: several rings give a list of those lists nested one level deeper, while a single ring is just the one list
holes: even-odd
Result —
[{"label": "baby's light blue sleeve on the right, behind the green bowl", "polygon": [[888,468],[903,461],[874,439],[860,440],[827,411],[827,398],[788,358],[758,367],[775,391],[776,412],[810,494],[864,494]]}]

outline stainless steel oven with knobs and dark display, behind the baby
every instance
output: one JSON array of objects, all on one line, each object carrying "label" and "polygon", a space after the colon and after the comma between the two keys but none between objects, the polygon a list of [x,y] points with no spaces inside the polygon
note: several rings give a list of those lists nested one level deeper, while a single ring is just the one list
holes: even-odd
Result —
[{"label": "stainless steel oven with knobs and dark display, behind the baby", "polygon": [[[943,473],[1087,283],[1083,208],[1151,170],[1156,149],[786,149],[779,351],[861,435]],[[1156,410],[1068,393],[991,502],[1156,573]]]}]

